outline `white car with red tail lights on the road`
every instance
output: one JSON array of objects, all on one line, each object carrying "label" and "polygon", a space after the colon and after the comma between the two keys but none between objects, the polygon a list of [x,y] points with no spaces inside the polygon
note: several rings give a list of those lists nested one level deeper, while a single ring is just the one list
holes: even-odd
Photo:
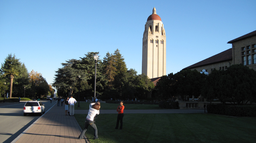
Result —
[{"label": "white car with red tail lights on the road", "polygon": [[44,114],[45,107],[41,101],[27,101],[25,106],[23,107],[23,114]]}]

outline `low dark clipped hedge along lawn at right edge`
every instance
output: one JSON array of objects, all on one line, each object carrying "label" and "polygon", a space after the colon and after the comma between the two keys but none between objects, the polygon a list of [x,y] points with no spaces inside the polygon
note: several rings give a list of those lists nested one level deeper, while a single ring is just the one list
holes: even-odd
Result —
[{"label": "low dark clipped hedge along lawn at right edge", "polygon": [[207,112],[212,114],[221,114],[226,116],[236,117],[256,117],[255,105],[222,105],[209,104],[207,105]]}]

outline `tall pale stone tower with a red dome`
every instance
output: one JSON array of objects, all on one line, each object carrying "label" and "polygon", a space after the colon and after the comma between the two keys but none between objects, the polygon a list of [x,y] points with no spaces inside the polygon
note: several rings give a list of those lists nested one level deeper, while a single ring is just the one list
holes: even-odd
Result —
[{"label": "tall pale stone tower with a red dome", "polygon": [[150,79],[166,75],[166,32],[155,8],[145,24],[142,45],[142,73]]}]

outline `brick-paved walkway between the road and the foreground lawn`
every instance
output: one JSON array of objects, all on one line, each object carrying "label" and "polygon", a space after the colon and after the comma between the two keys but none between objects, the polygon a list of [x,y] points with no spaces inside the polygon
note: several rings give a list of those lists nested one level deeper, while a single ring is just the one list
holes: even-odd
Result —
[{"label": "brick-paved walkway between the road and the foreground lawn", "polygon": [[81,127],[74,116],[66,116],[64,106],[55,103],[12,143],[90,143],[84,135],[79,140]]}]

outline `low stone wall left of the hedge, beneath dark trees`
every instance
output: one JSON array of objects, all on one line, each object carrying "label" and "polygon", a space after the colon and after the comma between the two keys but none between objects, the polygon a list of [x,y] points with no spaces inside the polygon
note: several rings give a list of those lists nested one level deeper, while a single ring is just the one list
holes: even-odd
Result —
[{"label": "low stone wall left of the hedge, beneath dark trees", "polygon": [[180,109],[204,109],[204,104],[210,102],[197,102],[197,101],[179,101]]}]

